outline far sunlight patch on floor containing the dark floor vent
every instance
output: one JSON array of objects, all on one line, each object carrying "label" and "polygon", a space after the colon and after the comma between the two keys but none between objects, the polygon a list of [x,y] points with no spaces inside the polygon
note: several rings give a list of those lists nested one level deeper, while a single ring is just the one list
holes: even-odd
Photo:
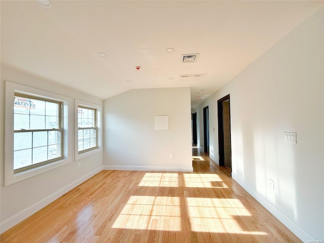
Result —
[{"label": "far sunlight patch on floor containing the dark floor vent", "polygon": [[184,174],[186,187],[228,188],[216,174]]}]

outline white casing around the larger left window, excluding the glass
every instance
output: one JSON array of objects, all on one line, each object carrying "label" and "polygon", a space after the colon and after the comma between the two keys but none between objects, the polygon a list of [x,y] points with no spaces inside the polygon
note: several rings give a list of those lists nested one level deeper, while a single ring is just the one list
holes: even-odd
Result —
[{"label": "white casing around the larger left window, excluding the glass", "polygon": [[[54,94],[48,91],[39,90],[36,88],[12,83],[6,80],[5,82],[5,159],[4,159],[4,185],[8,186],[13,183],[25,180],[27,178],[39,175],[41,173],[53,170],[55,168],[71,163],[71,137],[72,137],[72,101],[71,98]],[[63,106],[63,137],[62,155],[61,159],[55,160],[52,163],[39,165],[31,169],[23,170],[21,172],[14,172],[14,97],[15,93],[30,95],[49,100],[62,102]]]}]

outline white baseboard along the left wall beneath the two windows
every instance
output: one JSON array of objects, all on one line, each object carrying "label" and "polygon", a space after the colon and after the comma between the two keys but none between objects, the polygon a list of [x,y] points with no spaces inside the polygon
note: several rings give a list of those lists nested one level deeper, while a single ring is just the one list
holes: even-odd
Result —
[{"label": "white baseboard along the left wall beneath the two windows", "polygon": [[94,175],[98,174],[102,170],[103,170],[103,167],[101,166],[101,167],[97,168],[96,170],[88,173],[87,175],[73,181],[72,183],[68,184],[67,186],[63,187],[62,189],[43,198],[42,200],[37,201],[37,203],[34,203],[33,205],[31,205],[28,208],[24,209],[23,211],[15,214],[14,216],[10,217],[9,219],[1,222],[0,233],[5,232],[6,230],[10,229],[14,225],[16,225],[19,222],[23,221],[24,219],[28,218],[30,215],[43,209],[45,206],[49,205],[50,203],[52,203],[54,200],[56,200],[60,196],[64,195],[65,193],[72,190],[74,187],[78,186],[79,184],[85,182],[86,180],[93,177]]}]

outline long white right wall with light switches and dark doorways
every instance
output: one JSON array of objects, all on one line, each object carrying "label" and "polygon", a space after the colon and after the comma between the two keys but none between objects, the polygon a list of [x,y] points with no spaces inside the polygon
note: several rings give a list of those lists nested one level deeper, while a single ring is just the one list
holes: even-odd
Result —
[{"label": "long white right wall with light switches and dark doorways", "polygon": [[[322,8],[195,109],[203,140],[209,105],[218,161],[217,100],[230,94],[233,178],[304,241],[324,239],[323,16]],[[285,143],[284,132],[298,143]]]}]

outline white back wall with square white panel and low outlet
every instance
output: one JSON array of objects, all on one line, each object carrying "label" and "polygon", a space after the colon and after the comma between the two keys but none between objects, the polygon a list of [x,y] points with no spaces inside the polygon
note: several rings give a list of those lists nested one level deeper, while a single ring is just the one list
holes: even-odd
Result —
[{"label": "white back wall with square white panel and low outlet", "polygon": [[[190,112],[190,88],[130,90],[104,100],[105,169],[192,171]],[[169,130],[154,130],[155,115],[169,115]]]}]

